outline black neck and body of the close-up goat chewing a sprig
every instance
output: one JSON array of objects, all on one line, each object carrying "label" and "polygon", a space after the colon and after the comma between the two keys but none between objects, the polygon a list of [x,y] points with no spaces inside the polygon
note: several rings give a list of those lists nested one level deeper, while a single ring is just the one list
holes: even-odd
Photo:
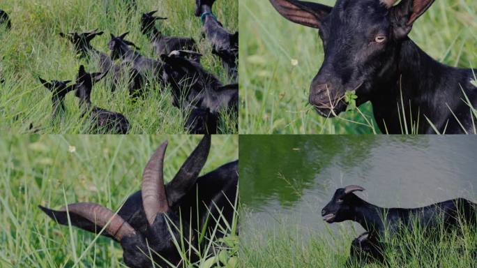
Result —
[{"label": "black neck and body of the close-up goat chewing a sprig", "polygon": [[[399,122],[402,108],[399,107],[404,105],[408,129],[411,129],[413,121],[418,121],[418,133],[434,133],[434,130],[425,124],[425,115],[439,131],[443,131],[447,123],[452,123],[447,122],[452,115],[449,109],[438,106],[447,103],[449,107],[457,107],[461,100],[453,100],[448,96],[462,95],[460,87],[443,85],[446,81],[454,80],[465,89],[464,85],[468,84],[466,73],[462,72],[462,69],[435,61],[409,38],[398,45],[394,57],[395,59],[390,59],[390,63],[394,61],[393,64],[389,64],[379,77],[379,90],[374,90],[374,94],[369,96],[379,128],[381,131],[387,130],[388,133],[402,133]],[[444,90],[445,94],[442,92]],[[399,107],[390,109],[388,104],[397,102]],[[453,112],[457,114],[460,111]]]}]

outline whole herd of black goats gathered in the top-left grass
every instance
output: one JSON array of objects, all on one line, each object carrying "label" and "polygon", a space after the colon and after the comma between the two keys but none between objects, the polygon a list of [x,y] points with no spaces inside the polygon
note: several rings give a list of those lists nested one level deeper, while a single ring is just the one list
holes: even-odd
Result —
[{"label": "whole herd of black goats gathered in the top-left grass", "polygon": [[[215,0],[197,0],[195,16],[200,17],[206,39],[212,47],[212,53],[220,59],[227,70],[230,80],[237,80],[237,59],[239,57],[239,33],[229,33],[212,13]],[[221,119],[238,125],[239,85],[222,84],[218,77],[207,71],[200,64],[202,54],[195,40],[186,37],[165,36],[155,26],[156,17],[153,12],[144,13],[141,20],[142,34],[151,40],[153,50],[158,59],[142,55],[139,48],[130,40],[126,40],[128,32],[114,36],[108,47],[110,54],[96,50],[91,40],[101,36],[103,31],[77,33],[70,32],[59,35],[73,44],[79,57],[99,62],[98,73],[89,73],[80,66],[74,84],[71,81],[44,80],[38,77],[41,84],[52,91],[53,118],[64,111],[64,99],[70,91],[75,91],[79,98],[82,117],[91,121],[91,131],[96,133],[126,134],[130,122],[119,112],[112,112],[93,105],[91,91],[94,84],[110,74],[111,91],[121,83],[127,83],[132,101],[144,98],[149,87],[160,84],[160,89],[170,87],[172,104],[181,110],[185,121],[185,130],[192,134],[215,134]],[[11,28],[7,13],[0,10],[0,24]],[[119,63],[116,64],[116,60]],[[161,94],[164,93],[161,91]]]}]

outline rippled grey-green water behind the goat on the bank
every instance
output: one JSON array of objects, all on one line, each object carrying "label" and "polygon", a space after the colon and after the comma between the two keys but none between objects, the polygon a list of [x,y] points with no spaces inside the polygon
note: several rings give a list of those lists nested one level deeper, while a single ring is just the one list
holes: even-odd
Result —
[{"label": "rippled grey-green water behind the goat on the bank", "polygon": [[[323,230],[336,188],[363,186],[381,207],[477,202],[477,139],[437,136],[245,135],[240,137],[241,225]],[[328,225],[338,230],[338,224]],[[358,231],[361,227],[357,227]],[[362,229],[361,229],[362,230]],[[246,233],[246,232],[245,232]]]}]

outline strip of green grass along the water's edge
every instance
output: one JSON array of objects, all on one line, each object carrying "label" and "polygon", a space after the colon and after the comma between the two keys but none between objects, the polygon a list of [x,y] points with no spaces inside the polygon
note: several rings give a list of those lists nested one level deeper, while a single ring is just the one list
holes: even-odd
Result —
[{"label": "strip of green grass along the water's edge", "polygon": [[[349,267],[349,268],[469,268],[477,265],[476,228],[462,224],[458,231],[446,234],[437,228],[431,239],[422,227],[394,237],[386,237],[386,262],[360,266],[347,262],[351,241],[359,232],[349,223],[335,224],[324,231],[302,230],[280,225],[276,230],[241,230],[239,267]],[[441,235],[439,235],[441,234]]]}]

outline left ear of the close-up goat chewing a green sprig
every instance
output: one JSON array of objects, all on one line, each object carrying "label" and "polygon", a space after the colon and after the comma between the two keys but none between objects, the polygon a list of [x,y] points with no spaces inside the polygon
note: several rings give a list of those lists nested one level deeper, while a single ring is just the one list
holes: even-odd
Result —
[{"label": "left ear of the close-up goat chewing a green sprig", "polygon": [[270,0],[273,7],[287,20],[319,28],[321,20],[331,13],[331,6],[297,0]]}]

